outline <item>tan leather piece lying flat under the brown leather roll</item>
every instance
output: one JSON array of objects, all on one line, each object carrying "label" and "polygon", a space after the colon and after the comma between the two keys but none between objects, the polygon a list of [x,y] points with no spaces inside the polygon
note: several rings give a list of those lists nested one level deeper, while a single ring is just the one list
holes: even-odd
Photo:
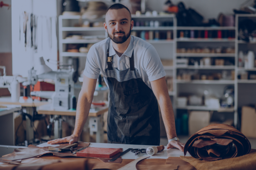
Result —
[{"label": "tan leather piece lying flat under the brown leather roll", "polygon": [[191,156],[180,157],[197,170],[255,170],[256,167],[256,149],[251,149],[249,154],[243,156],[216,161],[204,161]]}]

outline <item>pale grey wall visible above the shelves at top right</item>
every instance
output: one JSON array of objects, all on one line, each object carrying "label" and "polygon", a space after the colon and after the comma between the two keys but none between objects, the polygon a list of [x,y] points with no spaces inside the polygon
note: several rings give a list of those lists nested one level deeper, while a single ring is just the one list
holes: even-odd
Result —
[{"label": "pale grey wall visible above the shelves at top right", "polygon": [[[177,5],[183,2],[186,8],[193,8],[204,16],[205,20],[217,18],[219,13],[233,14],[233,9],[239,9],[247,0],[171,0]],[[166,0],[146,0],[146,6],[151,10],[162,11]]]}]

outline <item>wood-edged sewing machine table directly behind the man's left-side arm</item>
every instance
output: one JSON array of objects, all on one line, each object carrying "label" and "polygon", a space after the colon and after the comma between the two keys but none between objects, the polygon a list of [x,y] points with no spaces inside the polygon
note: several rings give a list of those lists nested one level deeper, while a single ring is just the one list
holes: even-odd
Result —
[{"label": "wood-edged sewing machine table directly behind the man's left-side arm", "polygon": [[[52,110],[50,105],[42,105],[38,107],[38,114],[54,115],[60,121],[54,122],[54,138],[61,138],[61,116],[76,116],[76,110]],[[90,109],[89,111],[89,127],[90,134],[96,132],[96,142],[103,143],[103,119],[102,115],[108,111],[108,106],[97,107],[96,110]]]}]

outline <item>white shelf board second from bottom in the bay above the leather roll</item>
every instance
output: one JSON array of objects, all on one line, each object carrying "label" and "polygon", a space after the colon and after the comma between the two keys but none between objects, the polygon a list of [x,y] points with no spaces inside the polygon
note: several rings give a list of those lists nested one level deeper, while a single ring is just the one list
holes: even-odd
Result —
[{"label": "white shelf board second from bottom in the bay above the leather roll", "polygon": [[179,84],[234,84],[233,80],[177,80]]}]

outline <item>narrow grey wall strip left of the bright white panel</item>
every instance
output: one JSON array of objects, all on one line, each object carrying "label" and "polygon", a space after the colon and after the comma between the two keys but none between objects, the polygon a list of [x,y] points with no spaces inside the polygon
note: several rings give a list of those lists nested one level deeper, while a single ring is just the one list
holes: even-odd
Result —
[{"label": "narrow grey wall strip left of the bright white panel", "polygon": [[[11,0],[2,0],[11,5]],[[12,8],[0,8],[0,53],[12,52]],[[0,64],[1,65],[1,64]]]}]

